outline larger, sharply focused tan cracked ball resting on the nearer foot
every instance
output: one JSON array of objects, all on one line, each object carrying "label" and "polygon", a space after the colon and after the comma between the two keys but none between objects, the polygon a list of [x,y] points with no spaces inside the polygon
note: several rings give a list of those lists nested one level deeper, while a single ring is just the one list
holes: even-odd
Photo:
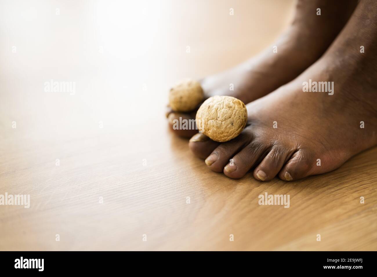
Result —
[{"label": "larger, sharply focused tan cracked ball resting on the nearer foot", "polygon": [[245,104],[232,96],[212,96],[196,112],[200,132],[218,142],[230,141],[245,128]]}]

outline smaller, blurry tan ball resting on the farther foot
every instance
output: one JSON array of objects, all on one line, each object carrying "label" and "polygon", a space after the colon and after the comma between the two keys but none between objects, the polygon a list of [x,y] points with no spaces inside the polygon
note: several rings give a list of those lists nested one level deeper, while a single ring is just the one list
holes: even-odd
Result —
[{"label": "smaller, blurry tan ball resting on the farther foot", "polygon": [[170,89],[169,104],[175,112],[190,112],[203,101],[203,89],[198,81],[186,79]]}]

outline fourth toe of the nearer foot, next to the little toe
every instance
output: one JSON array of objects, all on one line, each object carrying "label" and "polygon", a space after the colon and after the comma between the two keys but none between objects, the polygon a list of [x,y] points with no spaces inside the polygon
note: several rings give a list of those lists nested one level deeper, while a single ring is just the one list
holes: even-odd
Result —
[{"label": "fourth toe of the nearer foot, next to the little toe", "polygon": [[281,170],[287,159],[290,158],[294,150],[283,147],[282,145],[273,145],[270,152],[265,156],[263,161],[255,168],[254,178],[260,181],[270,181]]}]

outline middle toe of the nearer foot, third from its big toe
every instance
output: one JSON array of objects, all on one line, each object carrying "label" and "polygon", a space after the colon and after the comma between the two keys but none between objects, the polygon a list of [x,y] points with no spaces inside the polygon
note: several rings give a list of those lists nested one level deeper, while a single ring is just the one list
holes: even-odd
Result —
[{"label": "middle toe of the nearer foot, third from its big toe", "polygon": [[224,167],[224,174],[234,179],[242,178],[270,147],[267,142],[250,142]]}]

